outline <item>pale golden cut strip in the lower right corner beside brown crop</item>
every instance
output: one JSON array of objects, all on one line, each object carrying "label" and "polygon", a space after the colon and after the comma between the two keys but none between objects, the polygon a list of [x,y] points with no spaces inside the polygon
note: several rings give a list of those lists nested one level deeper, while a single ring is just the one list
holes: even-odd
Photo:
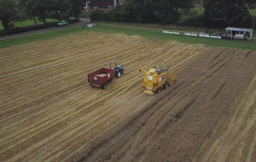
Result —
[{"label": "pale golden cut strip in the lower right corner beside brown crop", "polygon": [[[214,130],[214,134],[221,135],[211,141],[211,147],[201,158],[194,161],[251,161],[256,146],[256,72],[235,100],[238,104],[233,114]],[[208,143],[207,140],[204,144]]]}]

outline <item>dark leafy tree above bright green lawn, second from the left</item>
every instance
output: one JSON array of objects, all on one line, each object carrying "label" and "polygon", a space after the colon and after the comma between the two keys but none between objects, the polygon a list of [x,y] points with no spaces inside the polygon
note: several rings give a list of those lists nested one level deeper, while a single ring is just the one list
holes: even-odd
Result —
[{"label": "dark leafy tree above bright green lawn, second from the left", "polygon": [[38,20],[45,24],[47,15],[52,12],[52,6],[52,0],[29,0],[26,3],[25,11],[35,23]]}]

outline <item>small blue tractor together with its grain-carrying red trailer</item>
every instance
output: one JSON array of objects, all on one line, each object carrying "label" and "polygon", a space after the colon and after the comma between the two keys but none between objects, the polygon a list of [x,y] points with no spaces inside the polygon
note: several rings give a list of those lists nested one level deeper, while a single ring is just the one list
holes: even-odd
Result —
[{"label": "small blue tractor together with its grain-carrying red trailer", "polygon": [[109,68],[101,68],[99,70],[96,70],[90,74],[88,74],[88,82],[90,85],[102,87],[103,89],[107,88],[107,82],[111,81],[115,76],[118,78],[120,77],[120,74],[124,74],[124,69],[122,65],[116,66],[113,69],[111,69],[111,64],[115,64],[115,62],[110,63],[110,69]]}]

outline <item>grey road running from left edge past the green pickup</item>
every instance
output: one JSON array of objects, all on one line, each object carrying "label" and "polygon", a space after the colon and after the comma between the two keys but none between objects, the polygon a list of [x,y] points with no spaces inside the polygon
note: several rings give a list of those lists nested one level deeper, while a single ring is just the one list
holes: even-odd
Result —
[{"label": "grey road running from left edge past the green pickup", "polygon": [[90,19],[88,18],[80,18],[79,23],[73,23],[73,24],[69,24],[68,26],[55,26],[55,27],[51,27],[51,28],[45,28],[45,29],[39,29],[39,30],[32,30],[32,31],[27,31],[27,32],[23,32],[23,33],[17,33],[17,34],[11,34],[11,35],[5,35],[5,36],[1,36],[0,39],[5,39],[5,38],[11,38],[11,37],[17,37],[17,36],[23,36],[23,35],[28,35],[28,34],[34,34],[34,33],[41,33],[41,32],[45,32],[45,31],[52,31],[52,30],[58,30],[58,29],[64,29],[64,28],[69,28],[71,26],[78,26],[81,25],[82,23],[89,23]]}]

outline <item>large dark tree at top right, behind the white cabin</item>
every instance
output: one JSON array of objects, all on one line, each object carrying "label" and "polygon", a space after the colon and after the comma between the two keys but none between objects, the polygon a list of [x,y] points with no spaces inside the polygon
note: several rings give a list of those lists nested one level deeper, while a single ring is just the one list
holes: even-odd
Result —
[{"label": "large dark tree at top right, behind the white cabin", "polygon": [[224,20],[228,25],[251,19],[248,9],[255,9],[255,0],[204,0],[204,16],[208,20]]}]

